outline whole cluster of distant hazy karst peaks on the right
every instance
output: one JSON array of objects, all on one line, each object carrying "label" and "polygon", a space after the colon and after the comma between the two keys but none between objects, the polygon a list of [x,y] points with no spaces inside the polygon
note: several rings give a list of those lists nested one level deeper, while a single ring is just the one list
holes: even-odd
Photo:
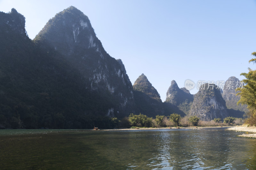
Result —
[{"label": "whole cluster of distant hazy karst peaks on the right", "polygon": [[225,116],[242,118],[247,111],[247,106],[236,104],[240,99],[240,96],[236,96],[235,90],[236,86],[241,86],[239,82],[236,77],[228,78],[223,87],[224,92],[215,84],[203,84],[196,94],[191,95],[186,88],[179,88],[172,80],[164,103],[165,105],[171,104],[169,107],[172,111],[179,112],[180,110],[181,115],[182,112],[186,115],[196,115],[201,120],[223,119]]}]

